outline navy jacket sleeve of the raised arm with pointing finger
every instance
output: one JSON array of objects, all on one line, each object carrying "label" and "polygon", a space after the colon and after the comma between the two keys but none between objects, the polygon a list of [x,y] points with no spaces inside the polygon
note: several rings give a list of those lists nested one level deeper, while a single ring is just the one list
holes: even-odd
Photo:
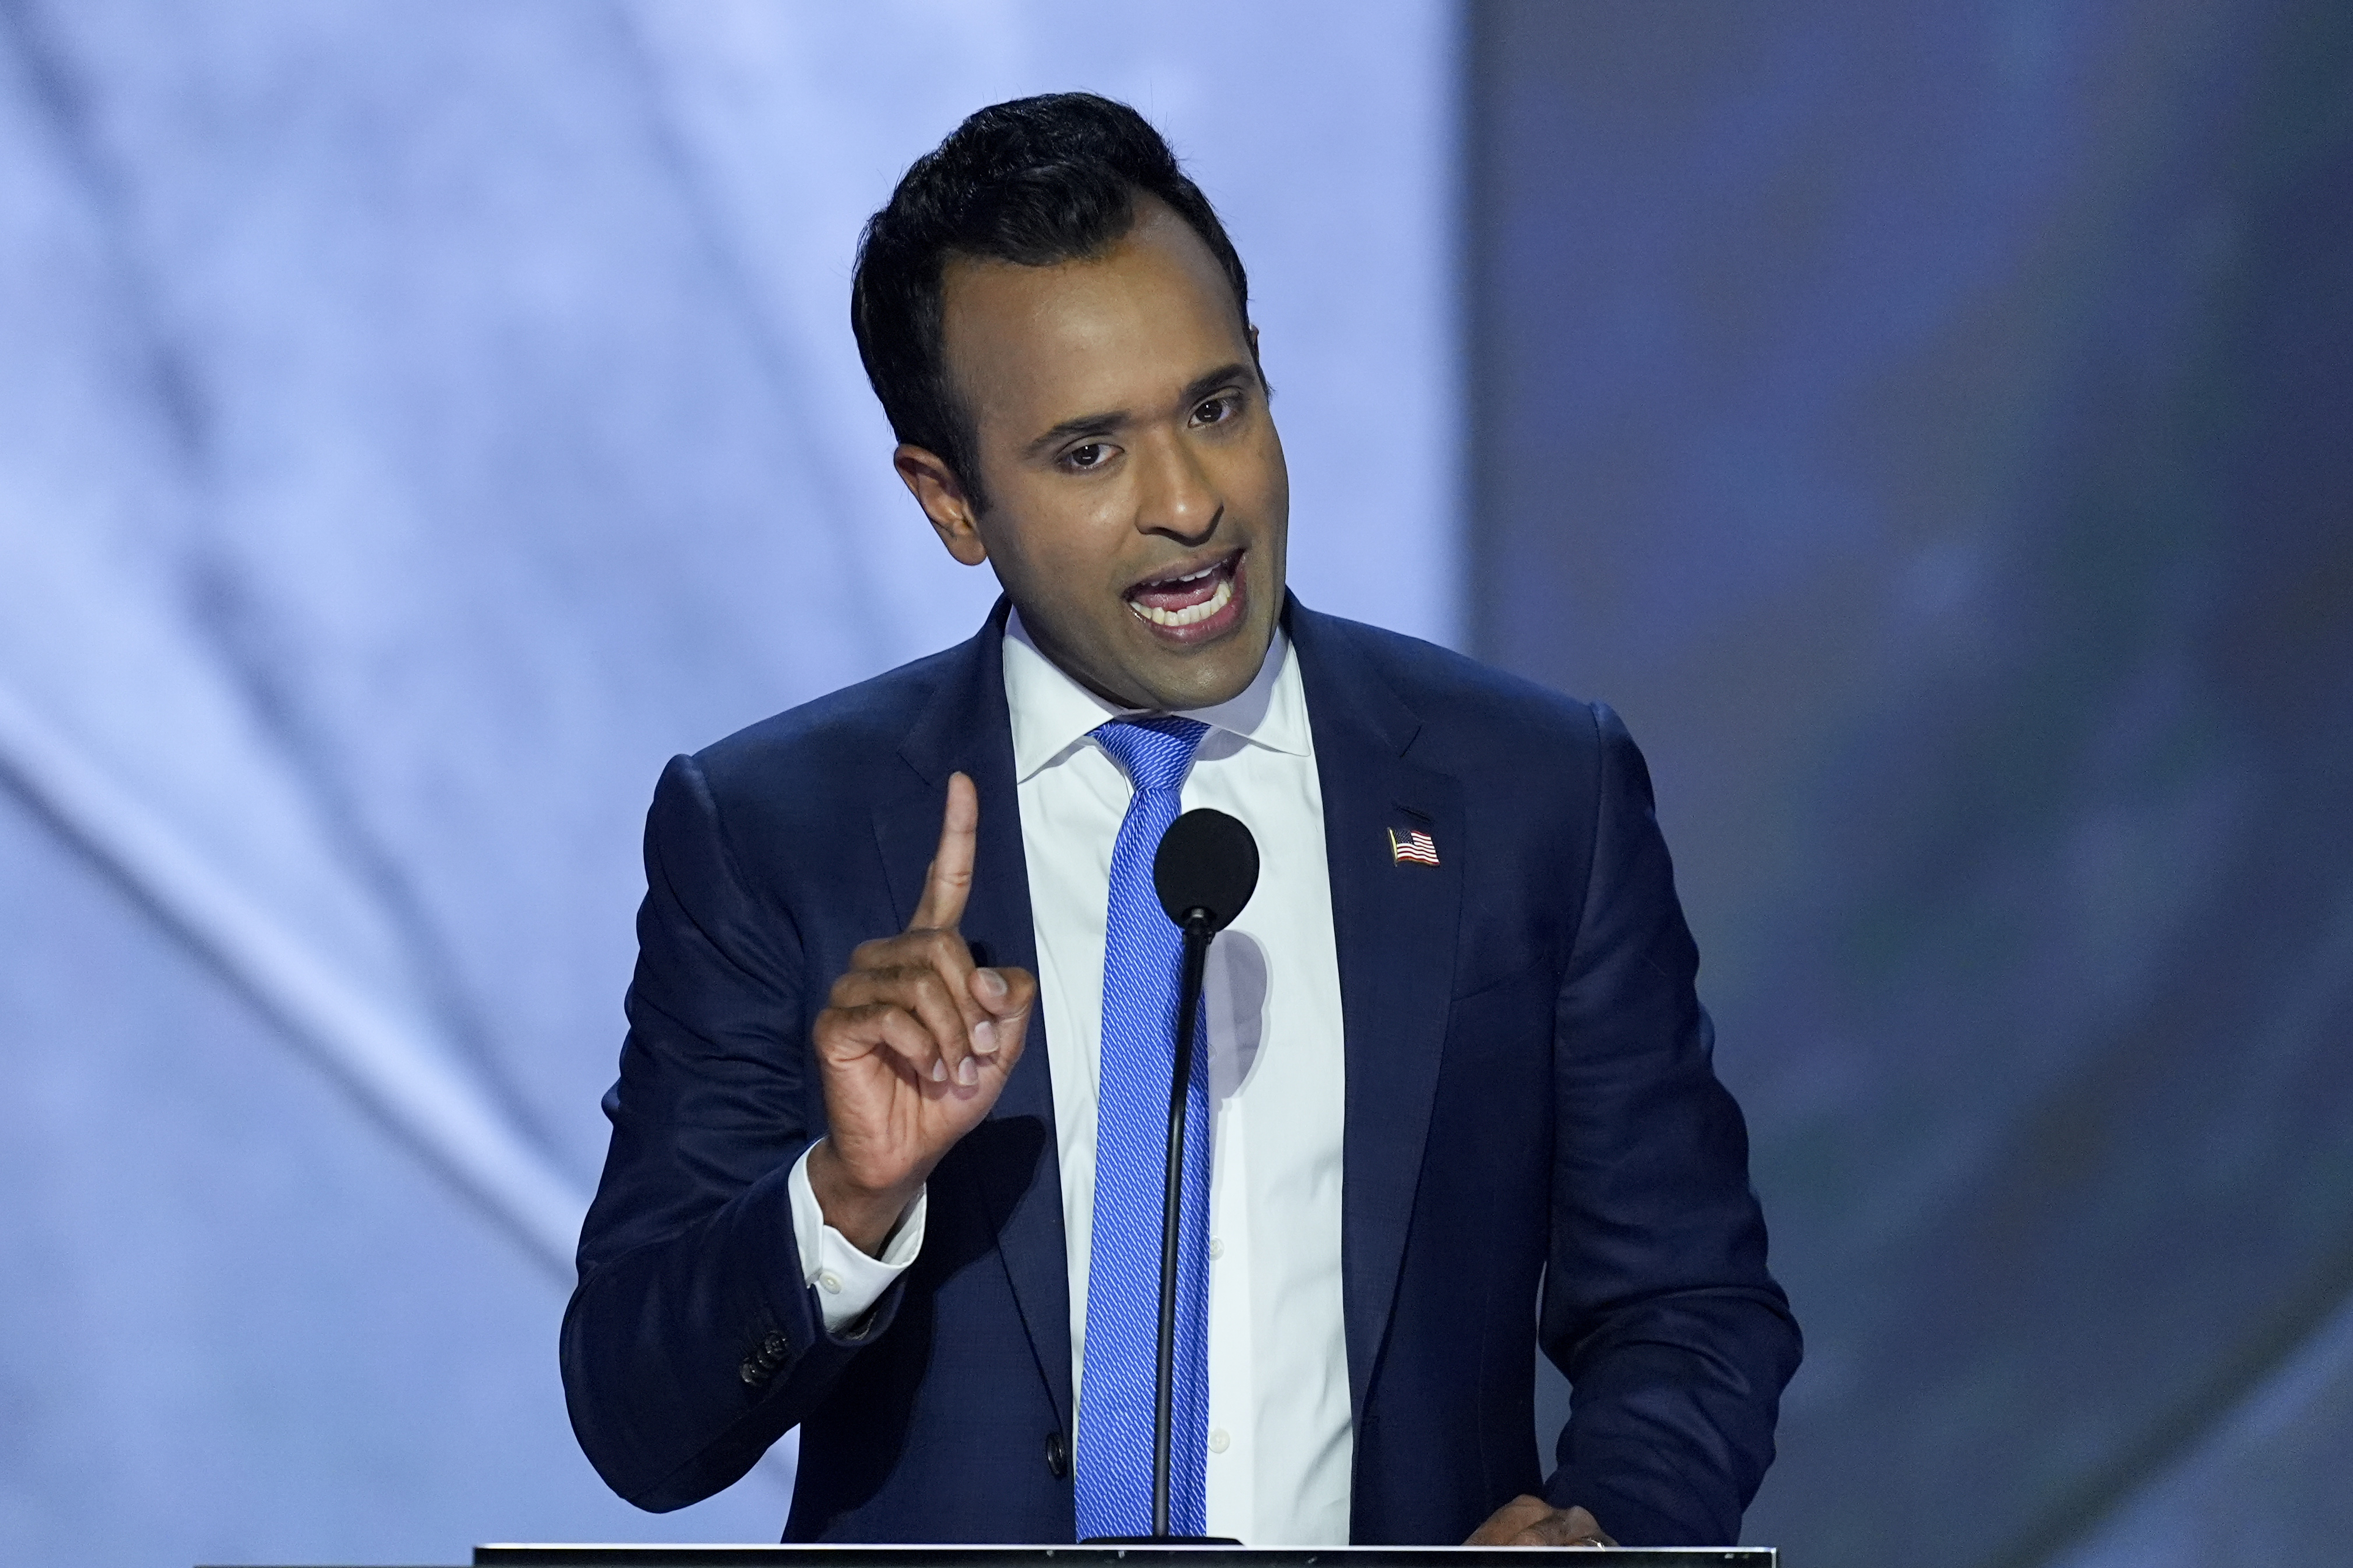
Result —
[{"label": "navy jacket sleeve of the raised arm with pointing finger", "polygon": [[824,1133],[798,926],[736,863],[711,785],[675,757],[645,827],[645,907],[612,1150],[565,1312],[572,1429],[645,1509],[736,1481],[880,1335],[826,1333],[800,1272],[791,1171]]}]

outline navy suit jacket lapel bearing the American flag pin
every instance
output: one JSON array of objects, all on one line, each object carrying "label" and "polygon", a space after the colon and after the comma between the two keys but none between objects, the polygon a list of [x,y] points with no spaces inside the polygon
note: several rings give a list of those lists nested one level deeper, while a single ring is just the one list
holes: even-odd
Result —
[{"label": "navy suit jacket lapel bearing the American flag pin", "polygon": [[[1341,1279],[1348,1392],[1358,1415],[1379,1366],[1405,1262],[1421,1150],[1438,1093],[1461,914],[1461,780],[1407,759],[1421,719],[1346,623],[1287,607],[1315,733],[1332,936],[1339,947],[1348,1131],[1341,1154]],[[1424,830],[1438,865],[1400,863],[1388,830]]]}]

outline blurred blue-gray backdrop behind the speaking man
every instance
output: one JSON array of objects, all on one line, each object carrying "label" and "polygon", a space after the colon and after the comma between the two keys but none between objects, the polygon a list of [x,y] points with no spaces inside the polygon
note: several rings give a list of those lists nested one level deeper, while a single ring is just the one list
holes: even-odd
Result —
[{"label": "blurred blue-gray backdrop behind the speaking man", "polygon": [[2339,1554],[2341,0],[0,0],[0,1556],[776,1535],[562,1418],[638,823],[984,614],[849,254],[1056,87],[1228,216],[1301,595],[1649,750],[1748,1537]]}]

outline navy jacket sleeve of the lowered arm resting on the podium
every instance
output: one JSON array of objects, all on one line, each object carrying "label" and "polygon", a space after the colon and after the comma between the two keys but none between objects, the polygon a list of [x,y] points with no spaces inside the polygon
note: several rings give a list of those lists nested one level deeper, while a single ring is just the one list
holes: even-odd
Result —
[{"label": "navy jacket sleeve of the lowered arm resting on the podium", "polygon": [[1555,1025],[1546,1354],[1569,1375],[1555,1507],[1624,1544],[1732,1544],[1798,1326],[1765,1269],[1748,1131],[1715,1079],[1649,771],[1595,708],[1591,879]]}]

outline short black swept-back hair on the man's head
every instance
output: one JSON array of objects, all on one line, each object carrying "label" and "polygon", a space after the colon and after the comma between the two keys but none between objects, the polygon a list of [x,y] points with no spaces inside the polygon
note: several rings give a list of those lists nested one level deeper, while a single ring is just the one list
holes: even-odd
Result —
[{"label": "short black swept-back hair on the man's head", "polygon": [[892,433],[939,454],[984,510],[972,414],[948,386],[941,277],[951,256],[1052,266],[1101,256],[1136,221],[1136,193],[1167,202],[1217,256],[1249,320],[1249,277],[1226,226],[1169,143],[1125,103],[1049,92],[991,103],[915,160],[866,221],[849,327]]}]

